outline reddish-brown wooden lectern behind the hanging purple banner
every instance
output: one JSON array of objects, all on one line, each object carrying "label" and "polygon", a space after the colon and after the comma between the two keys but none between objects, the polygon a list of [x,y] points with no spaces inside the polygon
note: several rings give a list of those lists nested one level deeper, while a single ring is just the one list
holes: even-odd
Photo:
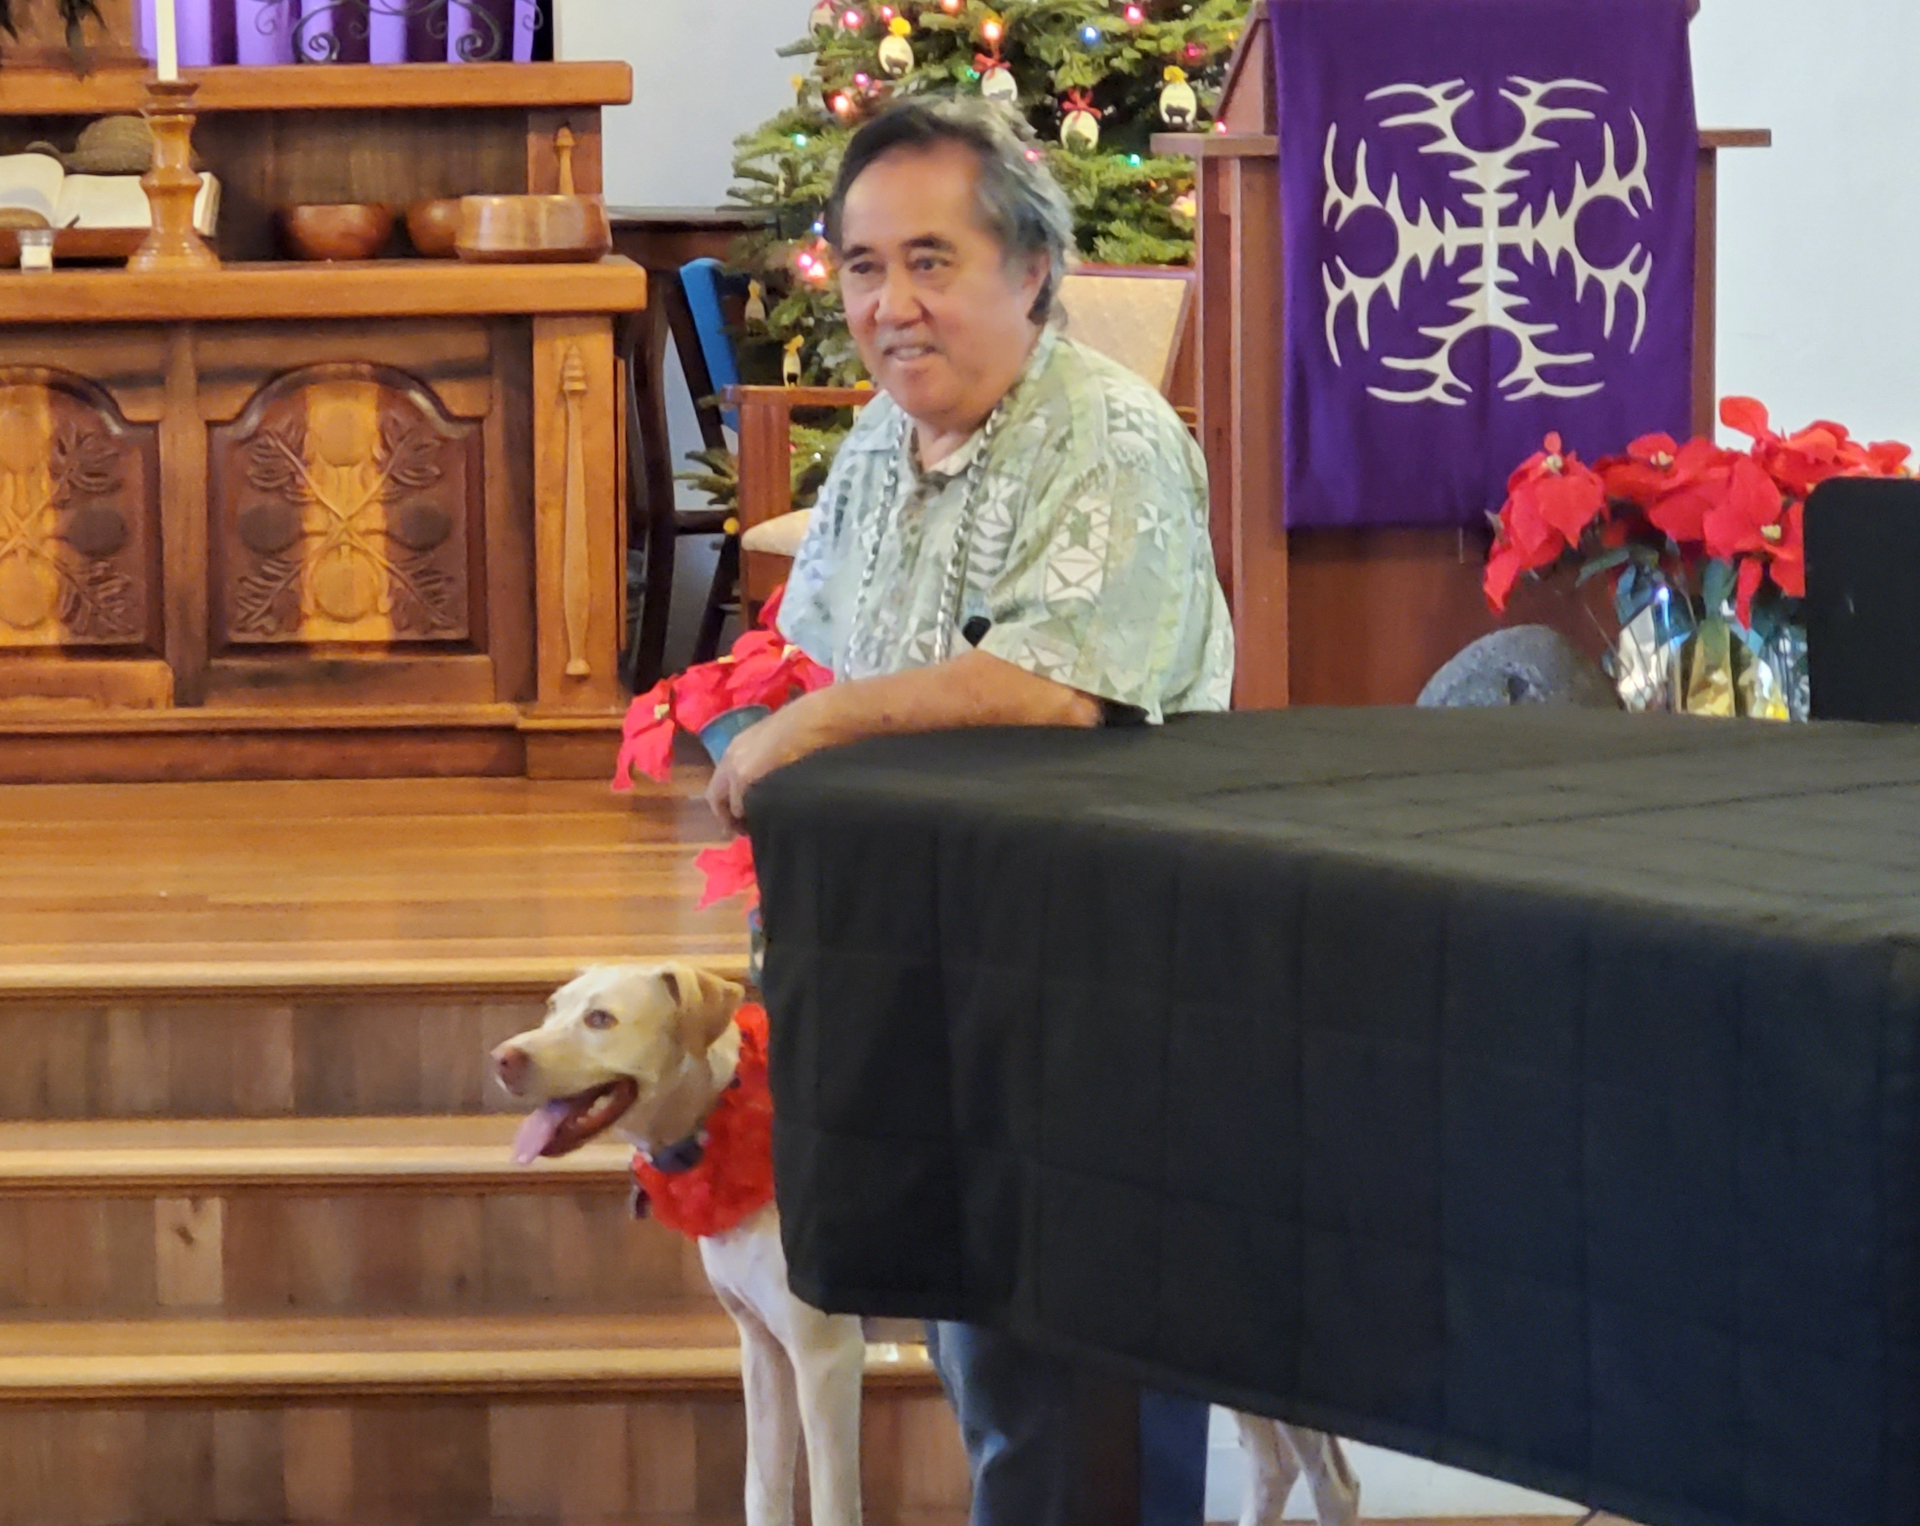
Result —
[{"label": "reddish-brown wooden lectern behind the hanging purple banner", "polygon": [[[1160,134],[1196,163],[1200,438],[1213,486],[1213,555],[1233,605],[1235,704],[1405,704],[1453,653],[1501,624],[1480,593],[1480,530],[1288,530],[1281,415],[1281,157],[1265,6],[1240,36],[1213,134]],[[1693,263],[1693,426],[1715,426],[1718,154],[1766,131],[1699,140]],[[1565,587],[1515,591],[1507,624],[1603,632]]]}]

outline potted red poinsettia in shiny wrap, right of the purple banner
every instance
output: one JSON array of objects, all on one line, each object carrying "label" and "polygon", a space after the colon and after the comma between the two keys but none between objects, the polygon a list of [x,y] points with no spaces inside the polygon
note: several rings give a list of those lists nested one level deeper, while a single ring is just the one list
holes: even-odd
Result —
[{"label": "potted red poinsettia in shiny wrap, right of the purple banner", "polygon": [[1548,436],[1507,484],[1486,599],[1505,612],[1521,578],[1607,576],[1628,708],[1805,720],[1807,497],[1836,476],[1907,476],[1912,451],[1834,422],[1784,436],[1751,397],[1724,399],[1720,422],[1753,443],[1645,436],[1586,465]]}]

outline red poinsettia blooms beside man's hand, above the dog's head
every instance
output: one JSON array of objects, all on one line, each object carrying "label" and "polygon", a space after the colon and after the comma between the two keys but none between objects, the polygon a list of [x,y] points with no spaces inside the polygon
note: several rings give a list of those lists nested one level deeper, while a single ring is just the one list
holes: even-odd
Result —
[{"label": "red poinsettia blooms beside man's hand, above the dog's head", "polygon": [[[831,670],[791,645],[776,628],[781,593],[783,587],[766,601],[755,630],[743,633],[726,656],[662,678],[634,699],[614,764],[616,791],[630,791],[634,774],[666,783],[674,766],[674,737],[680,733],[697,737],[707,756],[720,762],[733,737],[756,720],[833,681]],[[735,837],[724,846],[707,848],[693,864],[707,875],[699,902],[703,910],[733,896],[745,900],[753,948],[749,973],[758,979],[760,885],[753,873],[753,843],[745,835]]]}]

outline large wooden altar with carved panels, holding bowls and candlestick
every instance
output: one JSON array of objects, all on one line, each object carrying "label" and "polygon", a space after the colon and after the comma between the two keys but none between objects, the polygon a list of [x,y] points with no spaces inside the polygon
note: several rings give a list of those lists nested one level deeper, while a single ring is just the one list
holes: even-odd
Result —
[{"label": "large wooden altar with carved panels, holding bowls and candlestick", "polygon": [[[0,779],[611,770],[645,274],[273,255],[292,202],[601,188],[624,63],[200,71],[209,273],[0,273]],[[0,75],[0,152],[140,75]]]}]

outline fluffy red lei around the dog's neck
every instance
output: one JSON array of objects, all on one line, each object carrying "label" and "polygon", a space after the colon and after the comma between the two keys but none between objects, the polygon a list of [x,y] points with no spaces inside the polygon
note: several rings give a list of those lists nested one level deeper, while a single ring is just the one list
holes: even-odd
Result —
[{"label": "fluffy red lei around the dog's neck", "polygon": [[701,1125],[705,1152],[689,1171],[657,1171],[636,1152],[634,1180],[655,1219],[695,1240],[726,1234],[774,1202],[774,1092],[766,1085],[766,1008],[733,1013],[739,1065]]}]

